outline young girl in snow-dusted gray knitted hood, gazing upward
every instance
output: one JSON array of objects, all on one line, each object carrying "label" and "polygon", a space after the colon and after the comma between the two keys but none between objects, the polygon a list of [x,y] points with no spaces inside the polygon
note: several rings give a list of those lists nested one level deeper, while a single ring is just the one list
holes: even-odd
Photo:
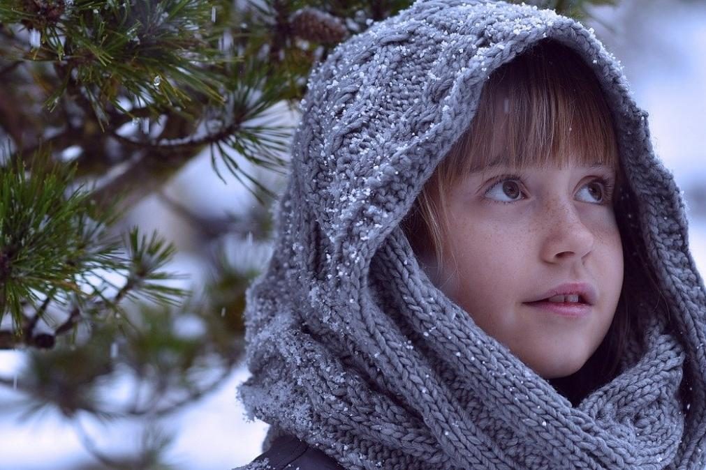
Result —
[{"label": "young girl in snow-dusted gray knitted hood, gazing upward", "polygon": [[248,295],[244,469],[703,469],[706,293],[616,60],[417,1],[314,71]]}]

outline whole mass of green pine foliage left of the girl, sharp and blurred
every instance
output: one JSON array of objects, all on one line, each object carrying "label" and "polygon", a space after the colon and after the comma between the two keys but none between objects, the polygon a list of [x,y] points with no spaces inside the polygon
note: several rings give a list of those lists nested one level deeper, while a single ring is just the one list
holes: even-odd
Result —
[{"label": "whole mass of green pine foliage left of the girl, sharp and blurred", "polygon": [[[0,3],[0,348],[28,358],[0,384],[77,423],[114,469],[165,468],[172,436],[154,418],[217,388],[241,359],[253,266],[224,240],[267,240],[273,200],[244,162],[285,173],[294,109],[335,44],[409,0],[6,0]],[[530,2],[532,3],[532,2]],[[534,2],[576,17],[611,0]],[[204,151],[261,201],[204,231],[213,279],[193,292],[167,271],[174,246],[128,209]],[[225,171],[223,169],[225,168]],[[184,323],[198,325],[189,334]],[[106,400],[115,383],[130,397]],[[78,416],[143,419],[143,448],[100,449]]]}]

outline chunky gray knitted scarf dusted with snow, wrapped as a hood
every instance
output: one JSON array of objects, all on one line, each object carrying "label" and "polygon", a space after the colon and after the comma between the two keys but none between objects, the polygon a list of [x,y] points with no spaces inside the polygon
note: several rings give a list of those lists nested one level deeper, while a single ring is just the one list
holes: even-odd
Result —
[{"label": "chunky gray knitted scarf dusted with snow, wrapped as a hood", "polygon": [[[637,326],[621,369],[578,404],[438,290],[400,228],[489,74],[544,38],[604,88],[627,180],[618,223],[644,271],[626,273]],[[591,30],[532,6],[417,1],[337,47],[301,111],[245,313],[239,392],[269,440],[295,435],[349,469],[704,468],[706,294],[683,202]]]}]

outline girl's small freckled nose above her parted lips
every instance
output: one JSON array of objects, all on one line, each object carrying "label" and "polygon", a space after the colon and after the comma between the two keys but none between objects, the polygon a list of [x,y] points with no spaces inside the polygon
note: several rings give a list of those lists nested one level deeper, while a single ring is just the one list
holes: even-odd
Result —
[{"label": "girl's small freckled nose above her parted lips", "polygon": [[562,263],[583,259],[595,243],[595,235],[581,220],[578,208],[572,202],[551,202],[540,218],[544,232],[542,259],[548,263]]}]

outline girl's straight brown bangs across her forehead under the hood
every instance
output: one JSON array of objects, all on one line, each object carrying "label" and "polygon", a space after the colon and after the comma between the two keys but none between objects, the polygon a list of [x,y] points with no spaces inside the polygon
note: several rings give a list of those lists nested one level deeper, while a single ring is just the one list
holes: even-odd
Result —
[{"label": "girl's straight brown bangs across her forehead under the hood", "polygon": [[493,72],[478,112],[439,168],[446,183],[497,165],[604,165],[618,169],[611,112],[574,51],[536,44]]}]

